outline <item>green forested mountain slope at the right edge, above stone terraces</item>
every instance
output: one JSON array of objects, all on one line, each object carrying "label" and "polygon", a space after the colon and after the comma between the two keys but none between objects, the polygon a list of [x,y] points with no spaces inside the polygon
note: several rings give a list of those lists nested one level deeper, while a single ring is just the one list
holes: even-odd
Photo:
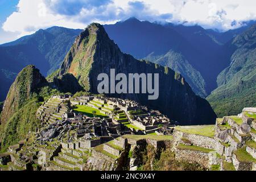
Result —
[{"label": "green forested mountain slope at the right edge, above stone terraces", "polygon": [[237,115],[243,107],[256,107],[256,24],[238,35],[230,66],[218,75],[218,88],[207,97],[218,117]]}]

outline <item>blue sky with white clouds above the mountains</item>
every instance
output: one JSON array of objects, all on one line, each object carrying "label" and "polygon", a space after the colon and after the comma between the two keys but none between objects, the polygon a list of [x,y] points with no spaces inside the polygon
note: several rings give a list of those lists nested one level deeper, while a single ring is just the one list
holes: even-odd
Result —
[{"label": "blue sky with white clouds above the mountains", "polygon": [[130,17],[226,31],[256,20],[255,0],[0,0],[0,44],[40,28],[85,28]]}]

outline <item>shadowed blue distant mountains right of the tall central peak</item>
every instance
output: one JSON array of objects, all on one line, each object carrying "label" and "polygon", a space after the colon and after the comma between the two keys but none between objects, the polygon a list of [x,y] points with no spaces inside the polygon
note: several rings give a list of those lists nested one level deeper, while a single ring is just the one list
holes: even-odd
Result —
[{"label": "shadowed blue distant mountains right of the tall central peak", "polygon": [[220,33],[200,26],[130,18],[104,27],[123,52],[174,69],[194,92],[206,97],[217,88],[218,74],[229,65],[231,52],[226,44],[248,26]]}]

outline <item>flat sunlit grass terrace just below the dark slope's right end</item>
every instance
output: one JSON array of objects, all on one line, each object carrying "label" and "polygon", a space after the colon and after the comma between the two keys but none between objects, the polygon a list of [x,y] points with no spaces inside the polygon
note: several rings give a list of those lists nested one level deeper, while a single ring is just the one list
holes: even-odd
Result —
[{"label": "flat sunlit grass terrace just below the dark slope's right end", "polygon": [[203,135],[205,137],[214,137],[215,125],[196,125],[196,126],[176,126],[176,130],[196,135]]}]

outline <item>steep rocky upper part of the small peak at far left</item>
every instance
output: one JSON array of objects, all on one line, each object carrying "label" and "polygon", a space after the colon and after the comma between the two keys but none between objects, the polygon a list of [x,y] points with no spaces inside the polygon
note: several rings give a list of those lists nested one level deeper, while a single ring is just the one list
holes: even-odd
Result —
[{"label": "steep rocky upper part of the small peak at far left", "polygon": [[7,94],[1,115],[1,124],[6,123],[32,96],[32,93],[46,83],[46,79],[34,65],[28,65],[22,69]]}]

